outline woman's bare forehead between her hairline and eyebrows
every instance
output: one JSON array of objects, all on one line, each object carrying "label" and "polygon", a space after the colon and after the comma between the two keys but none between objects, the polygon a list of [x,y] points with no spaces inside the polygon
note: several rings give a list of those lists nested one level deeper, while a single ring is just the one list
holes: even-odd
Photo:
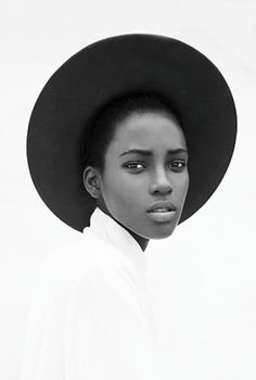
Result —
[{"label": "woman's bare forehead between her hairline and eyebrows", "polygon": [[187,149],[185,138],[176,118],[164,113],[133,113],[117,123],[110,148],[170,150]]}]

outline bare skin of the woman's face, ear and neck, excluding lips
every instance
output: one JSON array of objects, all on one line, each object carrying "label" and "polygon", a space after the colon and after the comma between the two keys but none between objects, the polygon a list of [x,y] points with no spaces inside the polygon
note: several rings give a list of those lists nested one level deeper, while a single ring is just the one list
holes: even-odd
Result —
[{"label": "bare skin of the woman's face, ear and neck, excluding lips", "polygon": [[[124,154],[131,149],[151,154]],[[178,122],[165,113],[132,113],[116,125],[103,175],[88,166],[84,183],[98,206],[129,231],[143,251],[150,239],[169,237],[189,188],[188,149]],[[166,200],[176,205],[175,217],[167,223],[152,220],[146,210]]]}]

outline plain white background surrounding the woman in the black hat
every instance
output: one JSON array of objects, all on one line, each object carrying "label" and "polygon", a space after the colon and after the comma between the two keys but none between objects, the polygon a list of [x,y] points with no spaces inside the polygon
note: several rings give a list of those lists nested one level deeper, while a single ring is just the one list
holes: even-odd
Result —
[{"label": "plain white background surrounding the woman in the black hat", "polygon": [[239,116],[233,160],[216,193],[172,237],[151,241],[146,251],[169,379],[256,379],[255,4],[23,0],[2,7],[1,379],[18,379],[29,301],[42,261],[79,233],[46,207],[30,180],[26,132],[31,109],[71,55],[126,33],[166,35],[202,51],[226,77]]}]

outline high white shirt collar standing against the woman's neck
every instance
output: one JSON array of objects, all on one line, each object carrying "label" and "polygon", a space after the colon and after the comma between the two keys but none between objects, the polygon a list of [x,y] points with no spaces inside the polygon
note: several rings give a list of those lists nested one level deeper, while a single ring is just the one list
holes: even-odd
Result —
[{"label": "high white shirt collar standing against the woman's neck", "polygon": [[100,239],[117,248],[140,273],[145,273],[145,253],[140,244],[124,227],[99,207],[91,214],[90,229]]}]

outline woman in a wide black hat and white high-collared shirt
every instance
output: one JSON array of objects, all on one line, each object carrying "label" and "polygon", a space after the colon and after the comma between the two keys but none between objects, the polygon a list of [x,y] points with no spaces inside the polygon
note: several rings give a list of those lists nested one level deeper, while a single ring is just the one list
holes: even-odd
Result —
[{"label": "woman in a wide black hat and white high-collared shirt", "polygon": [[222,76],[177,40],[114,37],[55,73],[31,115],[29,168],[84,236],[46,263],[23,379],[164,379],[144,251],[215,191],[235,129]]}]

